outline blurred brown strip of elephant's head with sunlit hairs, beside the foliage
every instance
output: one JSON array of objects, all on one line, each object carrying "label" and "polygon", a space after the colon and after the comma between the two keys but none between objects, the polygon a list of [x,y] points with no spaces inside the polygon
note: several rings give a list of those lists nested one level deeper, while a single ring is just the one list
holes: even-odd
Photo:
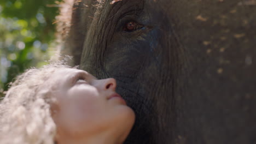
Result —
[{"label": "blurred brown strip of elephant's head with sunlit hairs, beside the foliage", "polygon": [[79,65],[86,32],[94,19],[95,0],[64,0],[57,19],[57,38],[61,55],[73,57],[71,65]]}]

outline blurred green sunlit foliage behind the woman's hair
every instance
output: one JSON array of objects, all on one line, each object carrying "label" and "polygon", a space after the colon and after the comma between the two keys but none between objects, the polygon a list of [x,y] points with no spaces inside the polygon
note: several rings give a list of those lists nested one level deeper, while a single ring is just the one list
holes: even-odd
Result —
[{"label": "blurred green sunlit foliage behind the woman's hair", "polygon": [[[45,64],[54,47],[61,0],[0,1],[0,93],[25,69]],[[0,95],[1,97],[1,95]]]}]

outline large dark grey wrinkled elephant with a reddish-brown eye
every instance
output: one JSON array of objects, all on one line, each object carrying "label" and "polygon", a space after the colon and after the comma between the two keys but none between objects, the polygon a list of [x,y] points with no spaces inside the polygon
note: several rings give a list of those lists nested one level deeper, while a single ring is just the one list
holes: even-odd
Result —
[{"label": "large dark grey wrinkled elephant with a reddish-brown eye", "polygon": [[256,143],[255,0],[66,0],[58,21],[135,110],[125,144]]}]

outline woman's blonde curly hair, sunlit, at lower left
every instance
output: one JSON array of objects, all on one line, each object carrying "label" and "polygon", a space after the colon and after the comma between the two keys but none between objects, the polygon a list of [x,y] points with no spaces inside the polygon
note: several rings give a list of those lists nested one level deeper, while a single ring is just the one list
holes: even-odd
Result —
[{"label": "woman's blonde curly hair, sunlit, at lower left", "polygon": [[51,117],[51,85],[45,83],[56,70],[70,68],[55,62],[31,68],[10,84],[0,103],[1,144],[53,144],[56,125]]}]

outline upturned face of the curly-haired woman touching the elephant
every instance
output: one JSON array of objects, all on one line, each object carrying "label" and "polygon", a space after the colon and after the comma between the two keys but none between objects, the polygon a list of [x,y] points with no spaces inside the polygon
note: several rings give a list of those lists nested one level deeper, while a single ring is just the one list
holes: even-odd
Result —
[{"label": "upturned face of the curly-haired woman touching the elephant", "polygon": [[80,137],[104,130],[129,134],[135,113],[115,92],[114,79],[97,80],[78,69],[57,70],[53,85],[53,119],[60,135]]}]

